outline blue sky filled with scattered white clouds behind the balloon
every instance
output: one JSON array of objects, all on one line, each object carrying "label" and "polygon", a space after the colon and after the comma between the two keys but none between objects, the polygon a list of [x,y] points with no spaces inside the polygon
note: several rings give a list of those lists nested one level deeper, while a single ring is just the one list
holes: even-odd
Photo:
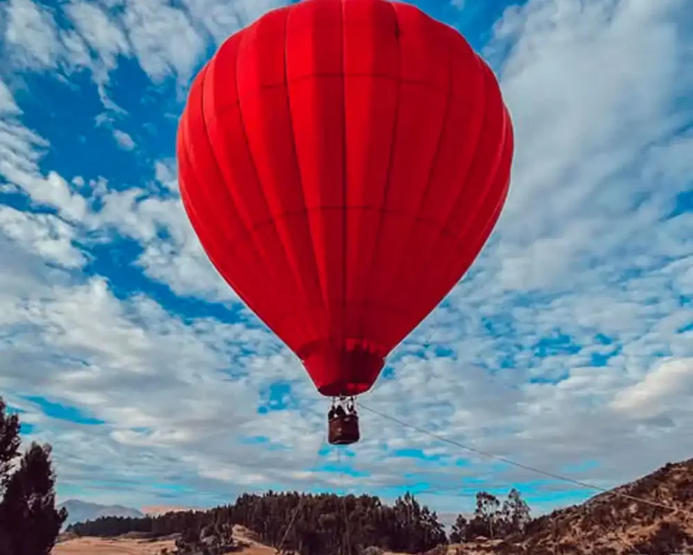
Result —
[{"label": "blue sky filled with scattered white clouds behind the balloon", "polygon": [[[414,3],[489,61],[516,155],[480,257],[362,402],[602,488],[693,457],[690,0]],[[363,409],[360,443],[324,445],[328,401],[207,261],[176,179],[191,79],[280,5],[0,4],[0,395],[53,446],[59,500],[593,495]]]}]

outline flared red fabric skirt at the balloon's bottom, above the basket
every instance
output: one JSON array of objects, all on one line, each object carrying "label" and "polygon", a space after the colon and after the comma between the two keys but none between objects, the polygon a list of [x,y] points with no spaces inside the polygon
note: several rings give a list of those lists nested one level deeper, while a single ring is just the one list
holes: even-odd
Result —
[{"label": "flared red fabric skirt at the balloon's bottom, above the basket", "polygon": [[385,366],[379,352],[363,348],[321,345],[301,357],[317,391],[326,397],[360,395],[368,391]]}]

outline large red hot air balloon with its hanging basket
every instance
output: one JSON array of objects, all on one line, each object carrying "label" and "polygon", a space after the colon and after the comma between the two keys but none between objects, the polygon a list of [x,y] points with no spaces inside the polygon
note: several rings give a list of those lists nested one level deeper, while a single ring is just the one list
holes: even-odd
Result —
[{"label": "large red hot air balloon with its hanging basket", "polygon": [[[177,137],[207,255],[342,400],[472,264],[512,155],[491,69],[387,0],[304,0],[238,31],[195,78]],[[344,429],[333,443],[358,439],[358,422]]]}]

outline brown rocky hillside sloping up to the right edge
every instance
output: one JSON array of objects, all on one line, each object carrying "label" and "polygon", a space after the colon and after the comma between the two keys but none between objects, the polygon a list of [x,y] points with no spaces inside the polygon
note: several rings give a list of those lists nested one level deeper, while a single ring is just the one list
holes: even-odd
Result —
[{"label": "brown rocky hillside sloping up to the right edge", "polygon": [[[649,499],[661,506],[624,496]],[[523,537],[451,546],[450,553],[693,554],[693,459],[667,464],[584,504],[536,518]]]}]

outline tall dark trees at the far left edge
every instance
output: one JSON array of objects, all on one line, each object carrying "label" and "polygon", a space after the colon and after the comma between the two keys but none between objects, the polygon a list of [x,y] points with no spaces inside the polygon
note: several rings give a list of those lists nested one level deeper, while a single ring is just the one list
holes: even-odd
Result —
[{"label": "tall dark trees at the far left edge", "polygon": [[0,555],[49,555],[67,511],[55,509],[51,446],[19,455],[19,418],[0,399]]}]

